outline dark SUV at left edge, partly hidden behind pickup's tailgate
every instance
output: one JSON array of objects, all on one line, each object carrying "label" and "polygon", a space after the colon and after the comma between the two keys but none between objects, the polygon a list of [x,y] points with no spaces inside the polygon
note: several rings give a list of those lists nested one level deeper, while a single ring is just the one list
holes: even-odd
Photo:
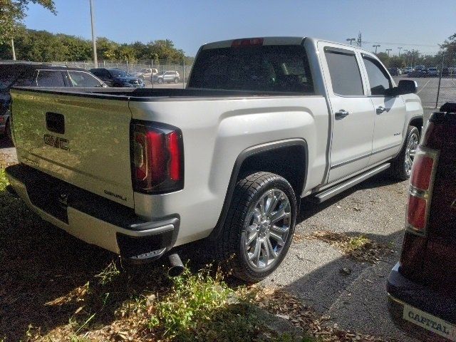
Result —
[{"label": "dark SUV at left edge, partly hidden behind pickup's tailgate", "polygon": [[9,108],[13,86],[27,87],[106,87],[103,81],[80,68],[51,66],[43,63],[0,63],[0,135],[11,134]]}]

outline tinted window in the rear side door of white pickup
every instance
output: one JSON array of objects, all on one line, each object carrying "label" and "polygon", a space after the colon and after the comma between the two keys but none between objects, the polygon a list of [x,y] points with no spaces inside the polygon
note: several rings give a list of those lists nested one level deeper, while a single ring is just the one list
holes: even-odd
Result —
[{"label": "tinted window in the rear side door of white pickup", "polygon": [[364,95],[363,81],[355,53],[339,48],[325,48],[325,56],[333,92],[345,96]]}]

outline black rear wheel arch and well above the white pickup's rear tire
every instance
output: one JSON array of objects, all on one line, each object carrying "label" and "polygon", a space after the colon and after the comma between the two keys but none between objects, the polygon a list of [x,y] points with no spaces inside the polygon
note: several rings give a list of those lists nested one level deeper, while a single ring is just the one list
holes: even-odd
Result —
[{"label": "black rear wheel arch and well above the white pickup's rear tire", "polygon": [[[217,225],[209,235],[209,239],[219,237],[224,227],[237,180],[249,173],[264,171],[284,177],[293,187],[299,209],[301,193],[306,186],[308,160],[307,142],[301,138],[266,142],[261,145],[247,147],[239,153],[229,178],[222,212],[219,215]],[[283,167],[284,163],[286,163],[287,167]]]}]

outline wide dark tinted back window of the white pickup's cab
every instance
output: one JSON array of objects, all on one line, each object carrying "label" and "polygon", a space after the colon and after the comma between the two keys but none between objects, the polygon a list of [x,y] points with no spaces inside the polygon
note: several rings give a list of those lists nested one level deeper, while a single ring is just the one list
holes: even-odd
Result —
[{"label": "wide dark tinted back window of the white pickup's cab", "polygon": [[189,88],[314,93],[302,46],[243,46],[202,50]]}]

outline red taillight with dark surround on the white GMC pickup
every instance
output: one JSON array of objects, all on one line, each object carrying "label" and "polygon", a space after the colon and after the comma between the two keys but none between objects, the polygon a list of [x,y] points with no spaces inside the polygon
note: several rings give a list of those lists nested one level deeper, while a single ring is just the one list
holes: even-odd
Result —
[{"label": "red taillight with dark surround on the white GMC pickup", "polygon": [[133,189],[150,194],[182,190],[182,132],[159,123],[133,123],[131,127]]}]

